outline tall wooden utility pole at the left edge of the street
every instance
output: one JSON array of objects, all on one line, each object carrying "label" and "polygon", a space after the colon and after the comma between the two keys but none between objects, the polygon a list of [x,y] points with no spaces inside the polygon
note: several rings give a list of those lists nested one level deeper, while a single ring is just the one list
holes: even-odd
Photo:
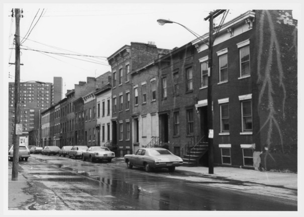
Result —
[{"label": "tall wooden utility pole at the left edge of the street", "polygon": [[15,128],[14,128],[14,153],[12,181],[18,181],[19,167],[19,132],[17,125],[20,123],[20,9],[15,9],[16,33],[15,33]]}]

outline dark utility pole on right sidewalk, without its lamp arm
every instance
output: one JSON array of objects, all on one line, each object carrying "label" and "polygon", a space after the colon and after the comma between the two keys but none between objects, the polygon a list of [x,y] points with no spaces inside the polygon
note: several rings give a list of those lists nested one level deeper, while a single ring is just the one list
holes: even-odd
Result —
[{"label": "dark utility pole on right sidewalk, without its lamp arm", "polygon": [[224,13],[226,10],[216,10],[210,12],[209,16],[204,20],[209,19],[209,52],[208,52],[208,93],[207,93],[207,113],[208,113],[208,165],[209,174],[214,174],[214,145],[213,145],[213,104],[212,104],[212,67],[213,67],[213,19]]}]

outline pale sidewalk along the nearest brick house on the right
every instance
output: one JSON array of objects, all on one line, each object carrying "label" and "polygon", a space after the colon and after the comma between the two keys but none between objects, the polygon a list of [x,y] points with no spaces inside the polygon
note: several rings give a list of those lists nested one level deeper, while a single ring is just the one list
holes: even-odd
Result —
[{"label": "pale sidewalk along the nearest brick house on the right", "polygon": [[241,169],[234,167],[215,167],[214,174],[209,174],[208,167],[176,167],[176,171],[185,171],[195,175],[203,175],[210,178],[225,178],[265,184],[269,186],[285,187],[297,190],[297,174],[281,172],[261,172],[251,169]]}]

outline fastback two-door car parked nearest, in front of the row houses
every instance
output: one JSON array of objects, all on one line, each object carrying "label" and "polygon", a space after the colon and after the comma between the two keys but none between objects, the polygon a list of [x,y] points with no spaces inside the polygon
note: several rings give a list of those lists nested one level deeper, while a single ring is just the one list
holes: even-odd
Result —
[{"label": "fastback two-door car parked nearest, in front of the row houses", "polygon": [[153,168],[168,168],[170,172],[182,165],[182,159],[164,148],[140,148],[135,154],[124,156],[127,167],[143,167],[147,172]]}]

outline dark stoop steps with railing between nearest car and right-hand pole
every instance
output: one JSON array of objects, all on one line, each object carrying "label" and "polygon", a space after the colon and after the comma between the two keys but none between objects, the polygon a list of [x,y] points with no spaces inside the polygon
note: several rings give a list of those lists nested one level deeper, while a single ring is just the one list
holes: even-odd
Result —
[{"label": "dark stoop steps with railing between nearest car and right-hand pole", "polygon": [[202,137],[196,144],[193,145],[192,140],[185,146],[183,155],[183,166],[193,167],[198,165],[199,159],[208,151],[208,142],[202,142]]}]

